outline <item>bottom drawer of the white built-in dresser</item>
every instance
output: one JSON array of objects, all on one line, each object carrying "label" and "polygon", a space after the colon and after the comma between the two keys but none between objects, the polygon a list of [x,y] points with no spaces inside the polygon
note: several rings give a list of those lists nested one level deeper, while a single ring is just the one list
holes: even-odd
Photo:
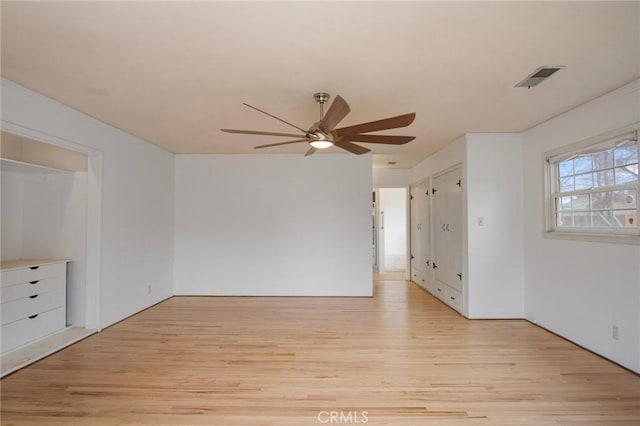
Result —
[{"label": "bottom drawer of the white built-in dresser", "polygon": [[58,308],[2,326],[2,352],[37,340],[65,327],[65,309]]}]

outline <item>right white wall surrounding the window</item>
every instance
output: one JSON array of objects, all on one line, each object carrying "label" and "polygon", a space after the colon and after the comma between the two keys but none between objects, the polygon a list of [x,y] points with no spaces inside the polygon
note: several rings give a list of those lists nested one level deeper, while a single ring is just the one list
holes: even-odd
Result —
[{"label": "right white wall surrounding the window", "polygon": [[[640,81],[523,134],[526,317],[640,371],[640,247],[545,239],[543,153],[638,121]],[[611,328],[620,329],[620,340]]]}]

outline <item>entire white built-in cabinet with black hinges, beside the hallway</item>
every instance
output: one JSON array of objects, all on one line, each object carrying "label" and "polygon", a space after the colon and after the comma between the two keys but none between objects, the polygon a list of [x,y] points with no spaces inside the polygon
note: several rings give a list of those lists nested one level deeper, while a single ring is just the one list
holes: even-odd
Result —
[{"label": "entire white built-in cabinet with black hinges, beside the hallway", "polygon": [[411,186],[411,280],[462,313],[462,172]]}]

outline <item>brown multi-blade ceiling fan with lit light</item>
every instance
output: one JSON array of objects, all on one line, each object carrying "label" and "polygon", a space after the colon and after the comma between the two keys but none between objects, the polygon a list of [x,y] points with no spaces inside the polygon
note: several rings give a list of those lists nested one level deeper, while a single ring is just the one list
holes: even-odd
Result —
[{"label": "brown multi-blade ceiling fan with lit light", "polygon": [[333,103],[324,114],[324,104],[329,100],[328,93],[316,93],[313,95],[317,103],[320,104],[320,121],[313,123],[309,130],[304,130],[294,124],[291,124],[275,115],[258,109],[247,103],[243,105],[255,109],[271,118],[275,118],[291,127],[298,129],[301,134],[295,133],[279,133],[279,132],[263,132],[256,130],[237,130],[237,129],[220,129],[227,133],[240,133],[244,135],[262,135],[262,136],[289,136],[298,138],[292,141],[270,143],[267,145],[258,145],[255,149],[269,148],[272,146],[288,145],[293,143],[307,142],[310,145],[309,150],[304,154],[305,157],[314,154],[318,149],[337,146],[353,154],[361,155],[371,151],[353,142],[363,143],[381,143],[390,145],[403,145],[415,139],[415,136],[390,136],[390,135],[365,135],[363,133],[377,132],[379,130],[397,129],[406,127],[413,123],[416,118],[415,112],[409,114],[398,115],[396,117],[384,118],[382,120],[370,121],[368,123],[356,124],[354,126],[342,127],[336,129],[335,126],[349,114],[351,109],[347,102],[341,96],[336,96]]}]

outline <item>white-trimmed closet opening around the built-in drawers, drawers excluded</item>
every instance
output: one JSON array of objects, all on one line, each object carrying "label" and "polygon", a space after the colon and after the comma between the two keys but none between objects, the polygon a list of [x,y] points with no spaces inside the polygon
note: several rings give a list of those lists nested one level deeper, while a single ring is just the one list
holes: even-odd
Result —
[{"label": "white-trimmed closet opening around the built-in drawers, drawers excluded", "polygon": [[1,136],[3,265],[69,261],[66,328],[3,352],[4,376],[100,329],[102,155],[11,123]]}]

